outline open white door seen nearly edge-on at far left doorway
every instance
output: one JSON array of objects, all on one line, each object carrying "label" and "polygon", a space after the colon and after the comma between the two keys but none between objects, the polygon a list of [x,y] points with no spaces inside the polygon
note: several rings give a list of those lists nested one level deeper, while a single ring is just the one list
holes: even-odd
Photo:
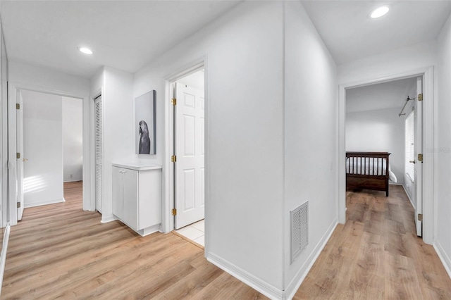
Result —
[{"label": "open white door seen nearly edge-on at far left doorway", "polygon": [[[23,153],[23,99],[22,93],[20,90],[17,90],[16,93],[16,126],[17,126],[17,152],[20,153],[20,157],[17,158],[17,185],[18,185],[18,194],[17,194],[17,220],[22,220],[23,215],[23,163],[27,161]],[[16,156],[17,157],[17,156]]]}]

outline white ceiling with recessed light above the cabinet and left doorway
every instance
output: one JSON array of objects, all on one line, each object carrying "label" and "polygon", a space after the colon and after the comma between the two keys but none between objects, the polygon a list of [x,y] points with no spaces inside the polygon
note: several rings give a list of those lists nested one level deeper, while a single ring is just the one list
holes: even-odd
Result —
[{"label": "white ceiling with recessed light above the cabinet and left doorway", "polygon": [[137,72],[240,1],[1,0],[1,21],[8,59],[90,78],[102,65]]}]

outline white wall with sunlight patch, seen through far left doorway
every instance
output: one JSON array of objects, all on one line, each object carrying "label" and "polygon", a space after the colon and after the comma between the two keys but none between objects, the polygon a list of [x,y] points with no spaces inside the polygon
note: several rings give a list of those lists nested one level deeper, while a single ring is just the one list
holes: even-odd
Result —
[{"label": "white wall with sunlight patch, seen through far left doorway", "polygon": [[61,96],[22,91],[24,206],[63,201]]}]

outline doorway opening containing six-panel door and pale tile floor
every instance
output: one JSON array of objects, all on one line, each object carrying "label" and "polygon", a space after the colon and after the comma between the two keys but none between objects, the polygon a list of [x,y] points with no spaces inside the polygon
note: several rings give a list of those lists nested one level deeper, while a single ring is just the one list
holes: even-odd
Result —
[{"label": "doorway opening containing six-panel door and pale tile floor", "polygon": [[198,68],[173,82],[174,230],[204,246],[205,80]]}]

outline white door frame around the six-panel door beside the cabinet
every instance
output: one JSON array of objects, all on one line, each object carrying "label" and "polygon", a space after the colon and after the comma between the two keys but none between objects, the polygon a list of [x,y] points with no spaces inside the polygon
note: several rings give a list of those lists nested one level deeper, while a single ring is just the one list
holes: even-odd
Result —
[{"label": "white door frame around the six-panel door beside the cabinet", "polygon": [[[171,99],[174,96],[173,83],[177,82],[183,77],[196,73],[198,70],[204,69],[204,99],[205,99],[205,136],[204,136],[204,147],[205,147],[205,219],[207,218],[207,199],[209,199],[209,185],[208,185],[208,111],[209,111],[209,95],[208,95],[208,68],[207,68],[207,58],[202,56],[191,63],[187,63],[184,67],[178,68],[177,71],[164,77],[165,82],[165,104],[164,104],[164,115],[165,115],[165,125],[164,125],[164,144],[166,151],[163,155],[163,206],[162,206],[162,220],[161,220],[161,231],[171,232],[174,230],[174,217],[172,215],[172,209],[174,208],[174,197],[175,197],[175,182],[174,182],[174,165],[171,163],[171,156],[174,153],[174,111],[173,105],[171,104]],[[207,243],[206,243],[207,244]]]}]

